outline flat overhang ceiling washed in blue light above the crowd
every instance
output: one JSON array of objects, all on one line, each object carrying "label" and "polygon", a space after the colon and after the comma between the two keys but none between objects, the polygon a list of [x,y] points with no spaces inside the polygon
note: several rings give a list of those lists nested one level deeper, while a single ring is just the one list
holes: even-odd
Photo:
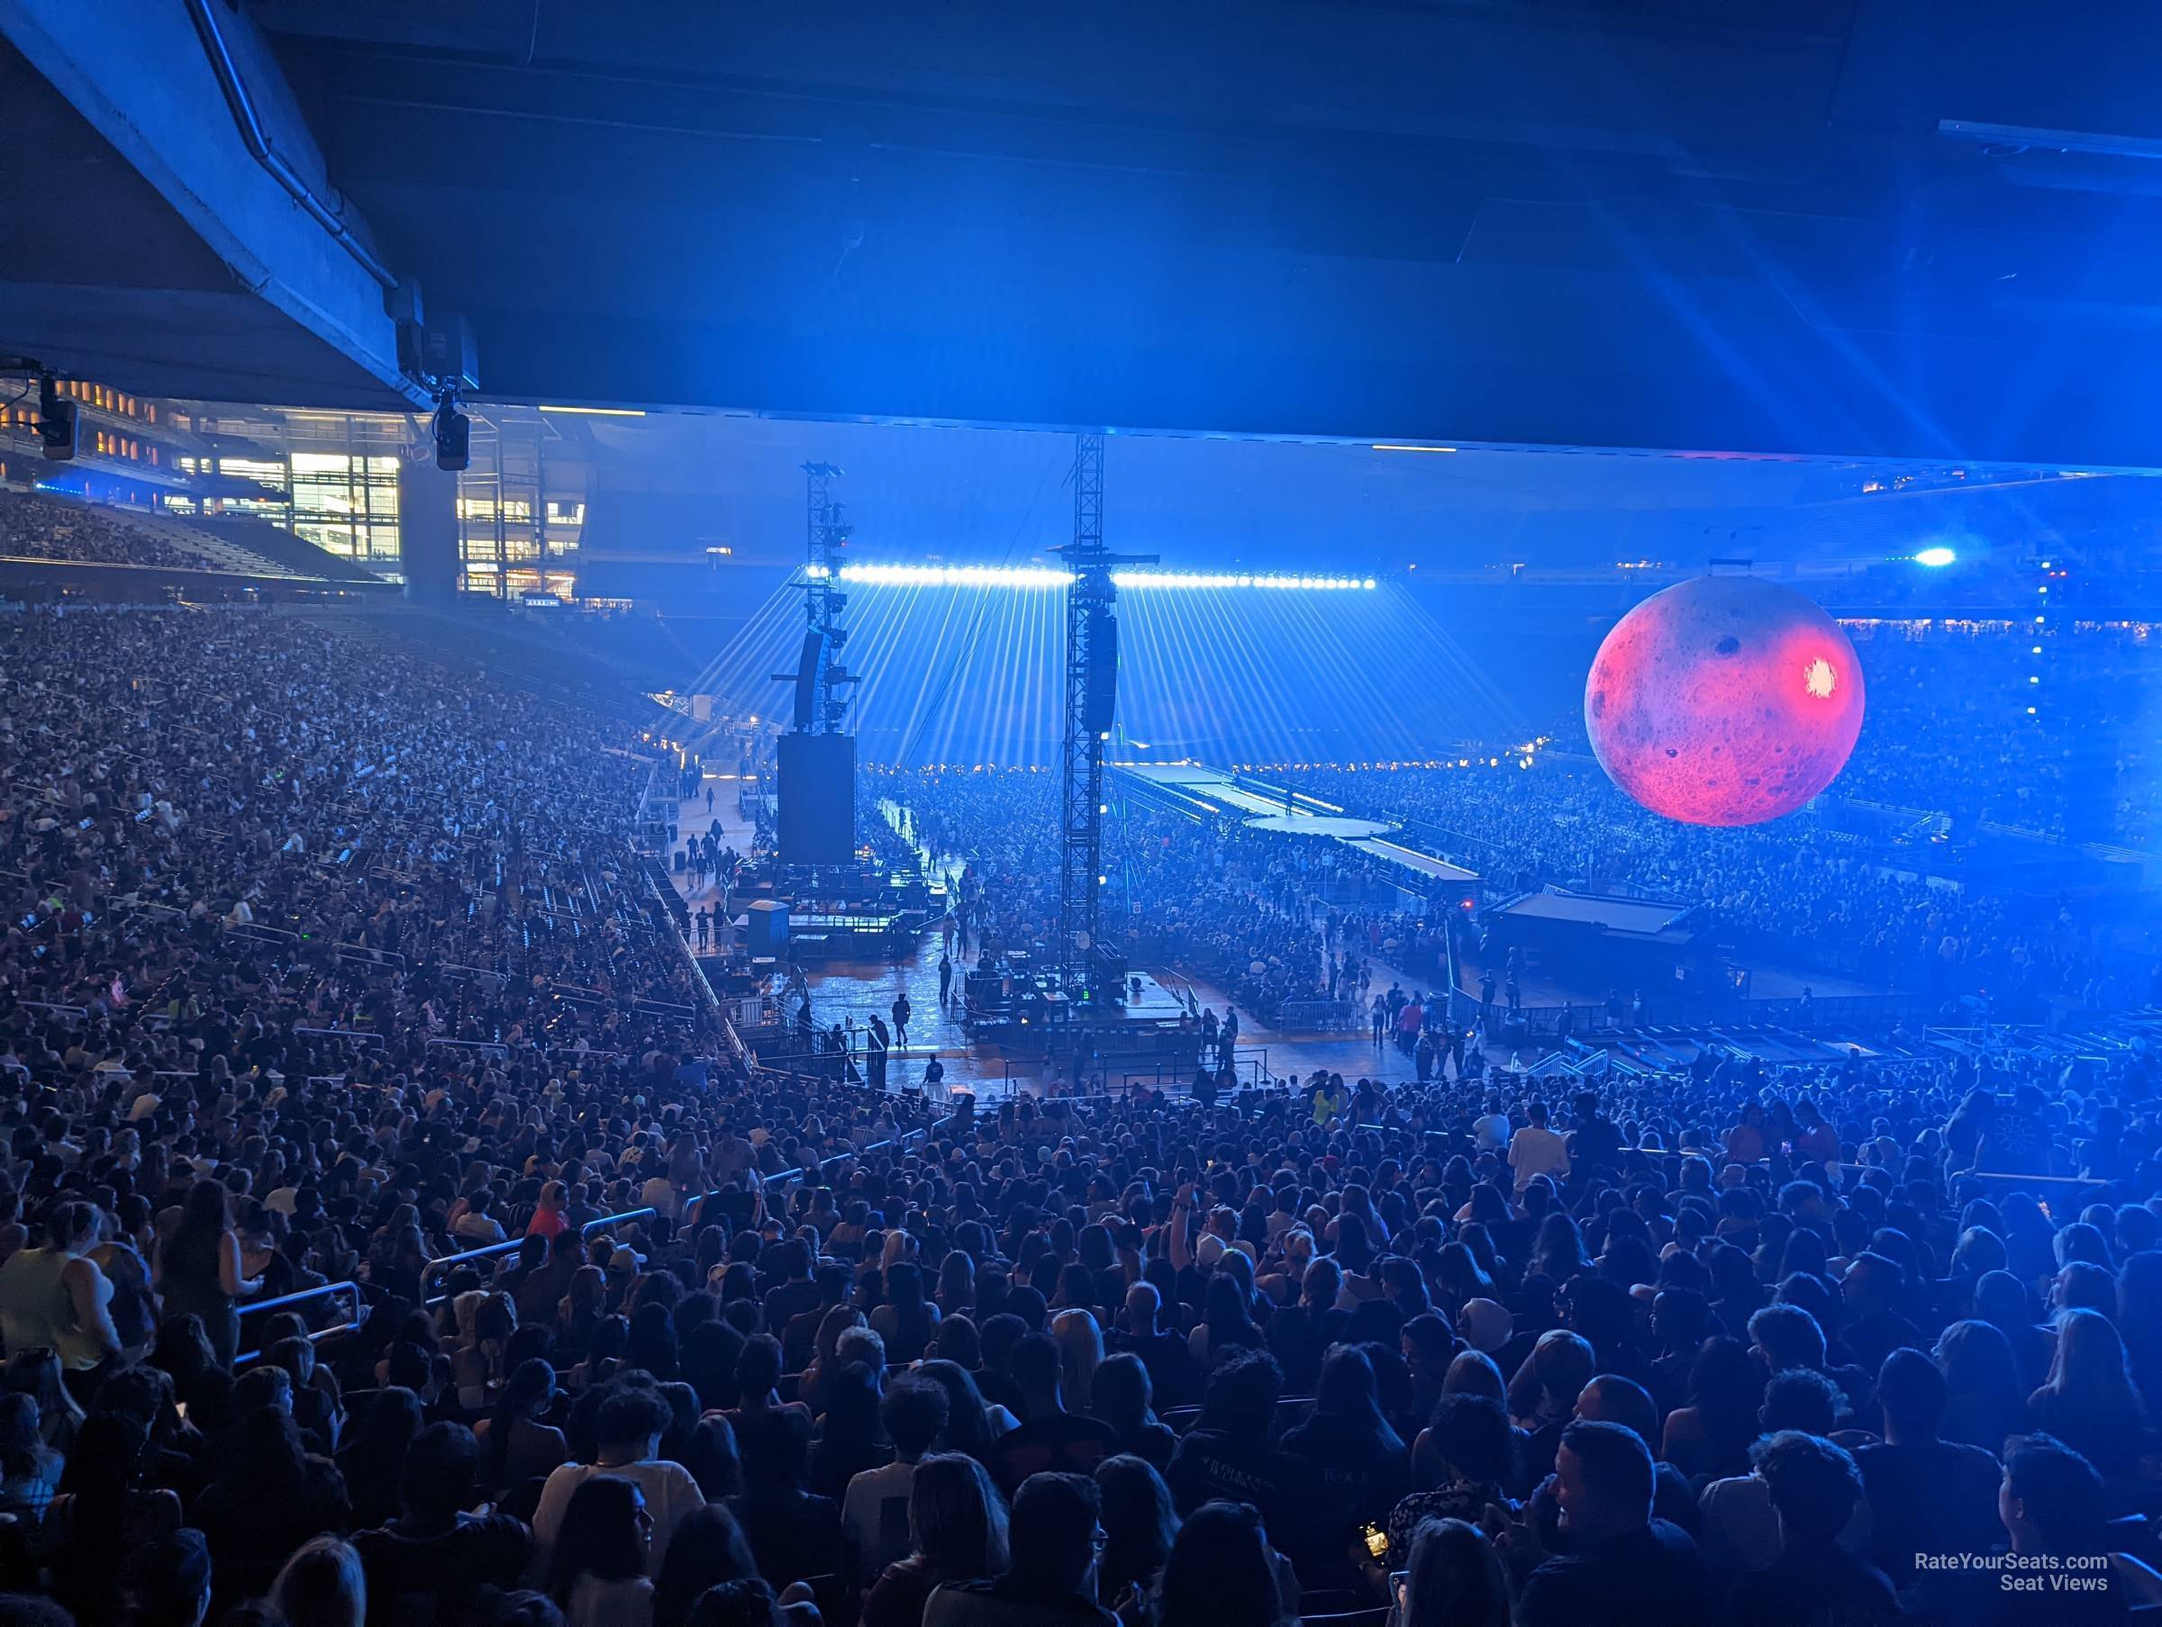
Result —
[{"label": "flat overhang ceiling washed in blue light above the crowd", "polygon": [[2162,465],[2130,0],[231,15],[493,398]]}]

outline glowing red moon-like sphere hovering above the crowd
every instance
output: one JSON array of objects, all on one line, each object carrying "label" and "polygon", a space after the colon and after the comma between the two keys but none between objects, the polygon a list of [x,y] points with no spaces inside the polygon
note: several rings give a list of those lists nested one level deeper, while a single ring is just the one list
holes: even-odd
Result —
[{"label": "glowing red moon-like sphere hovering above the crowd", "polygon": [[1585,681],[1585,728],[1600,767],[1652,812],[1760,825],[1846,767],[1861,663],[1801,594],[1697,577],[1615,622]]}]

